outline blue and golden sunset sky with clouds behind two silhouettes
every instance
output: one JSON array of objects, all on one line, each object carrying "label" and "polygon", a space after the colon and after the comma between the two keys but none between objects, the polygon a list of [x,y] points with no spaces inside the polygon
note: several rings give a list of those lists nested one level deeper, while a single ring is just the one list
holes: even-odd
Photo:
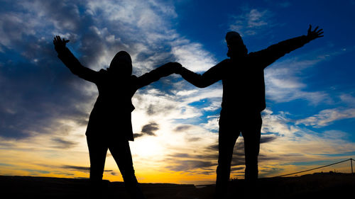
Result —
[{"label": "blue and golden sunset sky with clouds behind two silhouettes", "polygon": [[[259,176],[355,158],[354,0],[0,5],[0,175],[89,177],[84,133],[98,91],[60,62],[55,35],[69,39],[80,62],[97,71],[126,50],[136,76],[166,62],[202,74],[227,58],[228,31],[239,32],[249,52],[256,52],[319,25],[323,38],[265,69]],[[136,92],[130,146],[139,182],[214,183],[222,92],[222,81],[198,89],[178,74]],[[239,137],[231,178],[244,178],[243,147]],[[317,171],[349,173],[349,166]],[[104,178],[122,181],[109,153]]]}]

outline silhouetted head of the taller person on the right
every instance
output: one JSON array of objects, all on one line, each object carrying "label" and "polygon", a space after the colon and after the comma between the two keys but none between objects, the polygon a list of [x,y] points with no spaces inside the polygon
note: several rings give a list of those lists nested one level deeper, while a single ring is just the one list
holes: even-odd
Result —
[{"label": "silhouetted head of the taller person on the right", "polygon": [[234,31],[226,33],[226,45],[228,46],[228,57],[244,57],[248,54],[248,49],[244,45],[241,35]]}]

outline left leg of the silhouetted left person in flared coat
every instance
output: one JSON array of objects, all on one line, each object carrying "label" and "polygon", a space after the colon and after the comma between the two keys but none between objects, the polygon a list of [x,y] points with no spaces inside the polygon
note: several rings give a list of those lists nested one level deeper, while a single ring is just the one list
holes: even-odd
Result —
[{"label": "left leg of the silhouetted left person in flared coat", "polygon": [[101,139],[91,136],[87,136],[87,146],[90,157],[90,196],[97,198],[102,194],[102,174],[108,147]]}]

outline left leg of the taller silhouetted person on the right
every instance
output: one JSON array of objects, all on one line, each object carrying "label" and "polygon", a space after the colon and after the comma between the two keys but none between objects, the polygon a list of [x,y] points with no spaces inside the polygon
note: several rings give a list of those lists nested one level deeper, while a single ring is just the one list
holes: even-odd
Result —
[{"label": "left leg of the taller silhouetted person on the right", "polygon": [[231,173],[231,159],[233,157],[234,144],[239,137],[239,130],[235,125],[228,122],[230,118],[219,118],[219,138],[218,138],[218,166],[216,193],[214,198],[224,198],[228,191],[229,177]]}]

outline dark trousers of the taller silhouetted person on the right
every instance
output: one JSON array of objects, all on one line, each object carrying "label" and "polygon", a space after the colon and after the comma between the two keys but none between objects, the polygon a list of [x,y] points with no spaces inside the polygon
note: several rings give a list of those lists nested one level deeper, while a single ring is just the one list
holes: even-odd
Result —
[{"label": "dark trousers of the taller silhouetted person on the right", "polygon": [[258,178],[258,154],[261,137],[261,113],[252,112],[236,116],[221,113],[219,118],[219,156],[217,166],[216,197],[223,198],[227,192],[231,172],[234,144],[241,135],[244,137],[245,179],[249,184]]}]

